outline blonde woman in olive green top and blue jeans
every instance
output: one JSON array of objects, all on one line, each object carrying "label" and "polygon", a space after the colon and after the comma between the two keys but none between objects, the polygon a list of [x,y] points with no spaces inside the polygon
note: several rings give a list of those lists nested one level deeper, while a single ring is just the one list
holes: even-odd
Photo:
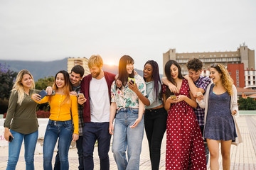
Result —
[{"label": "blonde woman in olive green top and blue jeans", "polygon": [[34,169],[33,159],[38,139],[37,103],[31,99],[31,95],[38,92],[34,87],[33,76],[28,70],[18,72],[4,121],[4,138],[9,142],[7,170],[16,169],[23,139],[26,169]]}]

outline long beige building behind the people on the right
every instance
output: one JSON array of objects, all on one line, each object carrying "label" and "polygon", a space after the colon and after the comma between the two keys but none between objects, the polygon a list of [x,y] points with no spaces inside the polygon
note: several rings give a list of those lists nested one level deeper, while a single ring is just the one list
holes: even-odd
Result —
[{"label": "long beige building behind the people on the right", "polygon": [[240,45],[238,50],[230,52],[186,52],[176,53],[176,49],[170,49],[163,54],[164,66],[169,60],[176,60],[181,65],[182,74],[188,74],[186,63],[192,58],[199,58],[203,62],[203,69],[209,69],[210,64],[218,62],[227,64],[244,63],[245,70],[255,70],[255,50],[250,50],[246,45]]}]

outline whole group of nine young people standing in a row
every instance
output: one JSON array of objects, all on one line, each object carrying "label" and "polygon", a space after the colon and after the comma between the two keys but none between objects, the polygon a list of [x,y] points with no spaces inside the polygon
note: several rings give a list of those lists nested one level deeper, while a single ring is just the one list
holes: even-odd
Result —
[{"label": "whole group of nine young people standing in a row", "polygon": [[[26,169],[34,169],[36,105],[46,102],[50,104],[50,118],[43,142],[44,169],[53,169],[57,142],[54,169],[69,169],[71,141],[77,144],[78,169],[94,169],[96,141],[100,169],[110,169],[111,135],[117,168],[139,169],[144,128],[151,169],[159,169],[165,132],[166,169],[206,169],[209,151],[210,168],[218,169],[219,143],[223,169],[229,169],[230,145],[240,142],[240,133],[233,118],[238,114],[237,91],[222,64],[210,66],[211,81],[201,76],[200,60],[187,63],[188,75],[184,77],[179,64],[169,60],[164,84],[154,60],[144,64],[143,77],[134,71],[134,60],[129,55],[120,58],[117,75],[102,70],[100,55],[92,55],[88,67],[91,74],[85,77],[81,66],[73,67],[70,75],[58,72],[53,87],[46,89],[49,96],[42,99],[34,89],[31,73],[18,73],[4,123],[5,139],[14,137],[9,141],[7,169],[15,169],[23,139]],[[50,96],[53,90],[55,95]]]}]

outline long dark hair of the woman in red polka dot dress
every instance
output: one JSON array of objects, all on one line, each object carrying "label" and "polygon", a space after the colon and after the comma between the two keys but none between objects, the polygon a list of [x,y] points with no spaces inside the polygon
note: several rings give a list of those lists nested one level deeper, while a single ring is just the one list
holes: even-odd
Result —
[{"label": "long dark hair of the woman in red polka dot dress", "polygon": [[[166,62],[165,67],[164,67],[164,72],[166,74],[166,78],[171,81],[172,84],[174,84],[175,86],[177,86],[176,82],[174,81],[174,79],[171,76],[171,65],[174,64],[176,67],[178,67],[178,78],[179,79],[183,79],[183,76],[181,74],[181,66],[178,64],[178,62],[176,62],[175,60],[169,60],[168,62]],[[166,88],[166,99],[171,96],[171,91],[170,89],[167,87]]]}]

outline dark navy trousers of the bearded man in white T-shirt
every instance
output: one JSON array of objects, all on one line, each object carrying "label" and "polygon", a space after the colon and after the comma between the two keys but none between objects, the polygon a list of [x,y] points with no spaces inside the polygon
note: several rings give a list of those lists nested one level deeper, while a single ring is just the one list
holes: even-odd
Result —
[{"label": "dark navy trousers of the bearded man in white T-shirt", "polygon": [[110,151],[109,133],[110,123],[85,123],[82,129],[82,149],[84,159],[84,169],[93,170],[93,150],[95,142],[98,142],[98,154],[100,157],[100,169],[110,169],[110,158],[108,152]]}]

